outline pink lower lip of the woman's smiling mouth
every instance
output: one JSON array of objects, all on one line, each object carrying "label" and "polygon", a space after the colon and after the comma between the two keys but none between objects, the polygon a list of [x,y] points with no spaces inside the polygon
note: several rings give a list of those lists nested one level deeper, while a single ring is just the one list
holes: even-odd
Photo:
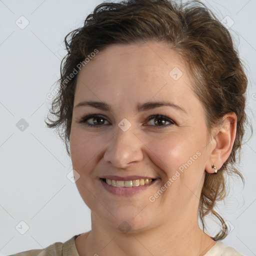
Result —
[{"label": "pink lower lip of the woman's smiling mouth", "polygon": [[117,187],[117,186],[112,186],[108,185],[103,181],[103,179],[99,179],[103,187],[110,193],[112,194],[119,194],[119,195],[132,195],[136,194],[140,191],[143,191],[147,189],[149,186],[153,185],[155,183],[155,180],[153,180],[150,184],[145,184],[145,185],[140,185],[140,186],[132,186],[132,187]]}]

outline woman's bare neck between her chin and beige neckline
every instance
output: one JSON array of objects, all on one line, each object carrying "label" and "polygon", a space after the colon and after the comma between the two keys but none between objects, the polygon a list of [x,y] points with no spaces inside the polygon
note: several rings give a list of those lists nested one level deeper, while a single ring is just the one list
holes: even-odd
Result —
[{"label": "woman's bare neck between her chin and beige neckline", "polygon": [[214,244],[191,218],[176,219],[144,231],[122,233],[106,226],[91,214],[91,231],[84,234],[77,247],[80,256],[100,255],[204,255]]}]

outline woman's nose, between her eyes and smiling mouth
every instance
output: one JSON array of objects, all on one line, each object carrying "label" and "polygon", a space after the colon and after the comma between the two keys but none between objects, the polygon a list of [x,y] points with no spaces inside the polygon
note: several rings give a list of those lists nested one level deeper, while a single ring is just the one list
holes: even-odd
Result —
[{"label": "woman's nose, between her eyes and smiling mouth", "polygon": [[116,126],[116,132],[107,143],[103,158],[117,168],[126,168],[143,159],[143,145],[132,126],[126,131]]}]

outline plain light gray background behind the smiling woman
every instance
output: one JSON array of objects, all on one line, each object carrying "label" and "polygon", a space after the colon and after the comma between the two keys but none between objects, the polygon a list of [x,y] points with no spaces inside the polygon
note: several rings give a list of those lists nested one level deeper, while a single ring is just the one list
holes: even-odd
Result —
[{"label": "plain light gray background behind the smiling woman", "polygon": [[[65,54],[64,36],[100,2],[0,0],[0,255],[43,248],[90,230],[90,211],[66,177],[71,160],[43,120],[50,106],[46,95],[55,87]],[[247,111],[255,126],[256,1],[203,2],[232,25],[229,30],[247,69]],[[16,127],[21,118],[28,123],[23,131]],[[253,134],[243,146],[244,189],[232,182],[219,206],[233,228],[223,241],[247,256],[256,255],[255,144]],[[26,224],[20,221],[29,226],[24,234]],[[209,223],[209,232],[218,228]]]}]

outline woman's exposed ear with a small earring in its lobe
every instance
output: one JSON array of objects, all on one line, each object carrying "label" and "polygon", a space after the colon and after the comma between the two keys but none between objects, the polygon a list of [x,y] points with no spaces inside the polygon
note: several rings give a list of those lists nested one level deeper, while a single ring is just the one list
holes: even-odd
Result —
[{"label": "woman's exposed ear with a small earring in its lobe", "polygon": [[[235,134],[237,117],[234,112],[227,113],[222,117],[221,124],[216,127],[213,139],[211,141],[210,155],[206,162],[205,171],[215,172],[221,168],[231,153]],[[213,165],[216,168],[213,168]]]}]

